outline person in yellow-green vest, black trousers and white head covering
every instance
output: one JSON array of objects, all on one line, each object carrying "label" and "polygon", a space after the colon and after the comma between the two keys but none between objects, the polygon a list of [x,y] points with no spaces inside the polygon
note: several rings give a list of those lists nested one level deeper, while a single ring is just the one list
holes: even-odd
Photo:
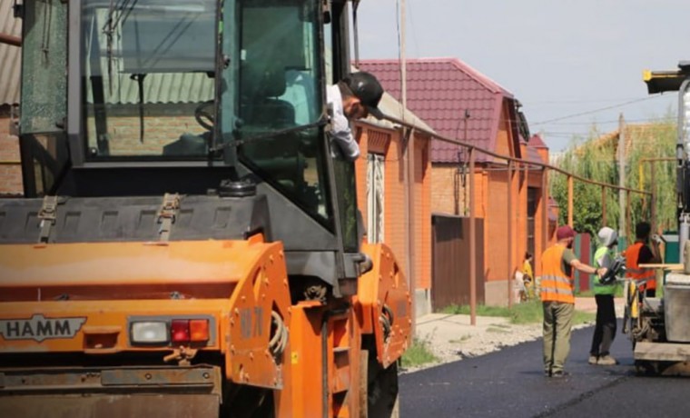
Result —
[{"label": "person in yellow-green vest, black trousers and white head covering", "polygon": [[[605,226],[596,234],[599,246],[594,254],[596,267],[610,269],[614,264],[615,248],[618,234]],[[589,350],[587,363],[598,365],[616,365],[618,362],[611,356],[609,349],[616,338],[616,280],[602,283],[599,276],[594,278],[594,297],[596,300],[596,324],[592,335],[592,348]]]}]

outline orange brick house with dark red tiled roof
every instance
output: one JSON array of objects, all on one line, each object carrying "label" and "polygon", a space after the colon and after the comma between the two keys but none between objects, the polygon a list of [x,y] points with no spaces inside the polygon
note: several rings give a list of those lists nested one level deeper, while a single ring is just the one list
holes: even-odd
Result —
[{"label": "orange brick house with dark red tiled roof", "polygon": [[[360,68],[377,75],[389,94],[400,97],[398,60],[363,60]],[[483,292],[486,304],[507,304],[508,278],[522,264],[526,251],[536,254],[536,274],[540,274],[538,254],[552,241],[556,228],[557,217],[549,210],[544,170],[529,164],[547,163],[548,148],[538,135],[530,137],[519,103],[508,90],[458,59],[410,59],[407,75],[409,109],[437,133],[524,161],[513,174],[512,205],[508,207],[508,164],[487,154],[476,154],[475,212],[483,224],[483,236],[478,240],[482,243],[478,276],[484,283],[478,294]],[[466,216],[468,153],[458,145],[432,140],[429,158],[431,212]],[[510,254],[508,240],[512,243]],[[462,256],[467,258],[467,254],[458,254]],[[432,255],[432,264],[436,263]],[[432,285],[437,280],[434,274]],[[468,278],[460,276],[456,280]]]}]

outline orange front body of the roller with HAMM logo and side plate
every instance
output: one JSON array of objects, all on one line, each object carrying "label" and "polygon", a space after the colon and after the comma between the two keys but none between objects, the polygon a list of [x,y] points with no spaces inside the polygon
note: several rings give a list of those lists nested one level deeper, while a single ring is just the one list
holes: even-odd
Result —
[{"label": "orange front body of the roller with HAMM logo and side plate", "polygon": [[0,330],[0,352],[157,350],[164,355],[173,348],[129,344],[129,316],[208,315],[215,320],[215,339],[207,349],[224,353],[227,379],[282,386],[287,354],[269,350],[276,330],[290,323],[280,243],[3,245],[0,302],[0,325],[9,327]]}]

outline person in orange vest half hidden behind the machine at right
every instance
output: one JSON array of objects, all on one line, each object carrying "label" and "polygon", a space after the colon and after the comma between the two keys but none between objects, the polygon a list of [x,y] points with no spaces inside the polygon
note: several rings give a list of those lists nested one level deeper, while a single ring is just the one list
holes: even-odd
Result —
[{"label": "person in orange vest half hidden behind the machine at right", "polygon": [[646,280],[640,285],[640,292],[646,297],[656,295],[656,272],[654,269],[640,267],[640,264],[661,263],[659,243],[657,236],[651,239],[652,225],[648,222],[640,222],[635,225],[635,243],[628,246],[624,252],[626,257],[626,278],[631,280]]}]

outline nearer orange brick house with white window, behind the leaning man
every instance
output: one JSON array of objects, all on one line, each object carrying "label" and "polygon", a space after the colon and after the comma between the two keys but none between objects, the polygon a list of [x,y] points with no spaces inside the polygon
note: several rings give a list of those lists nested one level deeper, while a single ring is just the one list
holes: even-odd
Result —
[{"label": "nearer orange brick house with white window, behind the leaning man", "polygon": [[[379,104],[384,114],[431,131],[409,110],[401,110],[391,95],[384,94]],[[390,246],[403,271],[415,283],[417,314],[428,313],[431,284],[431,162],[430,138],[414,134],[414,178],[408,186],[405,171],[404,131],[396,124],[369,117],[356,125],[360,158],[356,163],[358,206],[365,218],[370,242]],[[412,207],[407,196],[412,197]],[[413,231],[409,229],[413,218]],[[410,270],[409,270],[410,269]]]}]

